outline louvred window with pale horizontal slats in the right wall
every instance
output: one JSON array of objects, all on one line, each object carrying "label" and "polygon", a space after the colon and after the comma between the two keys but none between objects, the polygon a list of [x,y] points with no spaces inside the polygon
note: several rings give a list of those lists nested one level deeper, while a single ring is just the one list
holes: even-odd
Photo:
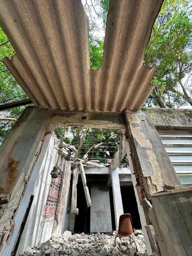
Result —
[{"label": "louvred window with pale horizontal slats in the right wall", "polygon": [[[158,132],[177,173],[192,173],[192,132]],[[178,175],[182,184],[192,184],[192,175]],[[187,183],[186,183],[187,182]]]}]

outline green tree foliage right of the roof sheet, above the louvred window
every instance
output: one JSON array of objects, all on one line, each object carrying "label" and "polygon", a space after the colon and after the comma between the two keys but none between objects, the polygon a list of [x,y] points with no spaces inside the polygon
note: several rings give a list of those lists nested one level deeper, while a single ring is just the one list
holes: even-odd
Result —
[{"label": "green tree foliage right of the roof sheet, above the louvred window", "polygon": [[192,2],[166,1],[152,30],[144,65],[156,66],[148,106],[192,106]]}]

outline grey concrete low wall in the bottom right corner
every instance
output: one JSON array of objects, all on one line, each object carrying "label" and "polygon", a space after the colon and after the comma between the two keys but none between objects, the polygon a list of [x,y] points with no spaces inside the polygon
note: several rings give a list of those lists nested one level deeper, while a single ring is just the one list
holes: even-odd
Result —
[{"label": "grey concrete low wall in the bottom right corner", "polygon": [[191,255],[192,186],[154,193],[151,201],[149,212],[153,210],[159,227],[161,255]]}]

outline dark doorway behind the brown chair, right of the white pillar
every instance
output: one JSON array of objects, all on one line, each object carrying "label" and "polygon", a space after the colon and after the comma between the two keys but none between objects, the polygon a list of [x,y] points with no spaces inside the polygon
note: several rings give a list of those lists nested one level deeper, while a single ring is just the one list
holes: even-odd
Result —
[{"label": "dark doorway behind the brown chair, right of the white pillar", "polygon": [[141,222],[134,188],[133,186],[121,186],[120,188],[124,213],[130,213],[133,222],[133,227],[135,229],[140,229]]}]

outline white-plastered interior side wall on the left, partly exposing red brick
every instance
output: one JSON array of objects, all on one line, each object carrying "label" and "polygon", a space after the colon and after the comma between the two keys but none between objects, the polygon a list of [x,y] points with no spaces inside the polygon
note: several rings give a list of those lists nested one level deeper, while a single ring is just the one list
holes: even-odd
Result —
[{"label": "white-plastered interior side wall on the left, partly exposing red brick", "polygon": [[[50,175],[58,157],[55,146],[55,140],[51,137],[44,156],[39,156],[40,159],[38,159],[39,161],[35,166],[34,171],[37,172],[38,176],[35,185],[31,186],[34,199],[16,256],[24,253],[24,250],[28,246],[34,246],[38,242],[43,243],[52,235],[56,207],[47,207],[47,201],[51,194],[55,196],[56,199],[58,197],[57,191],[51,188],[53,179]],[[63,159],[61,157],[59,162],[61,170],[63,166],[62,161]]]}]

